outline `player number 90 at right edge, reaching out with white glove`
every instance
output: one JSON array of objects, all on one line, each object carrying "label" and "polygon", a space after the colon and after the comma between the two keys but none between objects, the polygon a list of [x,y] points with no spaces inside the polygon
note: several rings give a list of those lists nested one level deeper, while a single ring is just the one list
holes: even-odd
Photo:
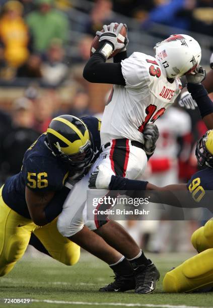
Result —
[{"label": "player number 90 at right edge, reaching out with white glove", "polygon": [[[102,188],[111,190],[155,190],[155,191],[190,191],[197,202],[205,200],[205,191],[213,190],[213,104],[206,90],[200,84],[205,72],[200,70],[198,75],[188,78],[188,91],[196,101],[201,117],[209,129],[196,146],[196,158],[199,166],[205,169],[196,172],[187,184],[172,184],[158,187],[146,181],[128,180],[119,176],[107,178],[104,168],[94,172],[90,179],[90,187],[95,187],[97,177],[102,179]],[[198,195],[197,195],[198,193]],[[166,201],[166,200],[165,200]],[[162,202],[167,203],[167,202]],[[191,242],[199,254],[186,260],[180,266],[166,273],[163,287],[166,292],[191,292],[203,287],[213,286],[213,219],[197,229]]]}]

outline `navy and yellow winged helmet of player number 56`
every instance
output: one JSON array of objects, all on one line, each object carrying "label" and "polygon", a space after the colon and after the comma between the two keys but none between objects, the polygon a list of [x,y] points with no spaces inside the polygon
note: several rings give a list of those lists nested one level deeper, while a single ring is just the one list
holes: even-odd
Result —
[{"label": "navy and yellow winged helmet of player number 56", "polygon": [[86,124],[72,115],[61,115],[49,124],[46,141],[54,156],[67,164],[69,171],[82,171],[94,157],[94,144]]}]

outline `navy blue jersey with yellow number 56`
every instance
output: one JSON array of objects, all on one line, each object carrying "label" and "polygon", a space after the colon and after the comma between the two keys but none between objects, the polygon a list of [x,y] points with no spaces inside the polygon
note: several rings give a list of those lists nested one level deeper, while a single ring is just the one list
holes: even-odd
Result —
[{"label": "navy blue jersey with yellow number 56", "polygon": [[[94,150],[99,150],[100,120],[92,116],[84,117],[82,120],[92,133]],[[63,188],[70,172],[67,164],[53,155],[45,141],[46,133],[42,134],[25,152],[20,173],[10,177],[3,187],[4,202],[26,218],[30,218],[30,214],[25,199],[25,187],[35,192],[41,190],[57,192]]]}]

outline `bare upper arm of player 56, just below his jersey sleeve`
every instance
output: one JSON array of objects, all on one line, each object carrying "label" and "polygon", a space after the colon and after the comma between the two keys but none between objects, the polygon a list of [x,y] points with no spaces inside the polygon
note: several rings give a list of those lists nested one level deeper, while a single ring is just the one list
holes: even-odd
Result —
[{"label": "bare upper arm of player 56, just below his jersey sleeve", "polygon": [[27,206],[30,212],[30,216],[35,224],[41,226],[49,222],[45,215],[45,207],[53,198],[54,193],[55,192],[53,191],[34,192],[26,187],[25,197]]}]

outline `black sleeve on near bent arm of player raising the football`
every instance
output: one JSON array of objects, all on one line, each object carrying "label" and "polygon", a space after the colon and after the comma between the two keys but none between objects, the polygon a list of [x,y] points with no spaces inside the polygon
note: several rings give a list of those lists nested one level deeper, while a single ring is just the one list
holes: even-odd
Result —
[{"label": "black sleeve on near bent arm of player raising the football", "polygon": [[85,65],[83,77],[91,83],[125,86],[121,64],[105,61],[105,57],[96,51]]}]

